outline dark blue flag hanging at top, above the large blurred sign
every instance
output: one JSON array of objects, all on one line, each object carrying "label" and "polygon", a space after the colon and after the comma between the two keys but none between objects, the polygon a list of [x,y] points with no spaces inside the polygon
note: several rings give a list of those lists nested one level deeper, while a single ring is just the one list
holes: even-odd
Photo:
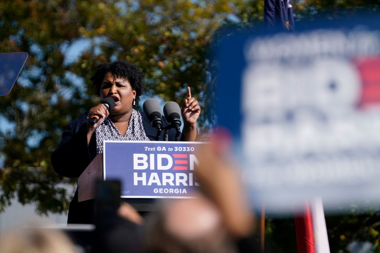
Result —
[{"label": "dark blue flag hanging at top, above the large blurred sign", "polygon": [[269,30],[294,30],[291,0],[264,0],[264,25]]}]

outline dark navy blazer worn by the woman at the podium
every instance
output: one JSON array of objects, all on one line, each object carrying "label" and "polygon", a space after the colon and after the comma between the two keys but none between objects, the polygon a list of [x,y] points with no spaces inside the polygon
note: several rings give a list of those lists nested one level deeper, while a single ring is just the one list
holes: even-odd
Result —
[{"label": "dark navy blazer worn by the woman at the podium", "polygon": [[[139,111],[140,112],[140,111]],[[156,140],[156,128],[152,126],[149,119],[143,112],[142,125],[145,133],[151,141]],[[73,122],[70,122],[67,130],[62,133],[62,141],[51,155],[51,163],[55,172],[63,177],[79,177],[82,172],[89,166],[91,161],[97,155],[96,153],[96,134],[93,134],[89,145],[87,145],[87,114],[82,114]],[[162,117],[163,127],[169,125],[165,117]],[[170,129],[167,131],[168,140],[174,141],[176,131]],[[163,139],[161,133],[160,140]],[[180,138],[184,141],[184,136]],[[90,224],[94,222],[94,204],[91,199],[88,201],[78,202],[78,188],[75,191],[73,200],[71,200],[67,223]]]}]

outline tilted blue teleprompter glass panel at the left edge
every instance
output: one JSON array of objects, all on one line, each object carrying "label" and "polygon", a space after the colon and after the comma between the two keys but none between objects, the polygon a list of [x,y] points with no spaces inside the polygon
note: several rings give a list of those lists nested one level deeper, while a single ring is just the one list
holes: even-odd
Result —
[{"label": "tilted blue teleprompter glass panel at the left edge", "polygon": [[0,96],[11,91],[27,58],[27,53],[0,54]]}]

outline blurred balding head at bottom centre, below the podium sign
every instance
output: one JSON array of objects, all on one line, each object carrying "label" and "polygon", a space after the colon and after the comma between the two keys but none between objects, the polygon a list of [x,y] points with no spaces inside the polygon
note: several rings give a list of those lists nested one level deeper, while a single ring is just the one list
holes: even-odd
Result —
[{"label": "blurred balding head at bottom centre, below the podium sign", "polygon": [[150,224],[146,252],[236,252],[217,207],[207,198],[171,202]]}]

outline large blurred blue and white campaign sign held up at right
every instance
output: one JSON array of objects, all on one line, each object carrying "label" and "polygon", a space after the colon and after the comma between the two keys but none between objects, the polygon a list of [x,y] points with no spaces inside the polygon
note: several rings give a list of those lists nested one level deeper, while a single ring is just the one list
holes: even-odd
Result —
[{"label": "large blurred blue and white campaign sign held up at right", "polygon": [[229,31],[220,41],[218,125],[234,136],[255,207],[380,201],[378,22]]}]

